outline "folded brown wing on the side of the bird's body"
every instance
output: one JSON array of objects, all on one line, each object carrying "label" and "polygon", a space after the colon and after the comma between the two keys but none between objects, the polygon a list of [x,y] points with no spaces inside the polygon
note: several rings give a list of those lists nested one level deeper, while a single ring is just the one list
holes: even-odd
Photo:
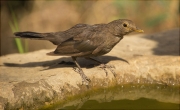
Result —
[{"label": "folded brown wing on the side of the bird's body", "polygon": [[104,39],[101,32],[103,26],[103,24],[89,26],[78,35],[58,45],[55,53],[73,55],[80,52],[93,52],[103,43]]}]

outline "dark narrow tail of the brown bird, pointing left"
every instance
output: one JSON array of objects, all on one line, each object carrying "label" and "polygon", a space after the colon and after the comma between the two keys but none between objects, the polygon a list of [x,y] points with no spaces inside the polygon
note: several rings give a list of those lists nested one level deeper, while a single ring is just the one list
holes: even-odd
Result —
[{"label": "dark narrow tail of the brown bird, pointing left", "polygon": [[30,39],[37,39],[37,40],[48,40],[46,38],[47,33],[36,33],[36,32],[15,32],[15,36],[20,38],[30,38]]}]

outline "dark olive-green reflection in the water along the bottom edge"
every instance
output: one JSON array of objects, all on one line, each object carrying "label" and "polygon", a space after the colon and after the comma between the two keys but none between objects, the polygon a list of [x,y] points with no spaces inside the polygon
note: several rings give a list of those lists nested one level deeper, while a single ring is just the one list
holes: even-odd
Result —
[{"label": "dark olive-green reflection in the water along the bottom edge", "polygon": [[[63,109],[76,109],[77,106],[66,106]],[[112,100],[99,103],[96,100],[88,100],[79,109],[177,109],[179,104],[159,102],[155,99],[140,98],[137,100]],[[61,110],[61,109],[59,109]]]}]

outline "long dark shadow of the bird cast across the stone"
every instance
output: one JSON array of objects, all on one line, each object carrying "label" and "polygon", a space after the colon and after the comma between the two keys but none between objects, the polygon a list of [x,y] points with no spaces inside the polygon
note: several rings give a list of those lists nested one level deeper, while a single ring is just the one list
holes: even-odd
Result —
[{"label": "long dark shadow of the bird cast across the stone", "polygon": [[[100,57],[96,57],[94,58],[102,63],[108,63],[109,61],[112,60],[121,60],[123,62],[126,62],[129,64],[129,62],[123,58],[118,58],[115,56],[100,56]],[[98,66],[99,64],[88,60],[88,59],[84,59],[84,58],[78,58],[77,62],[81,65],[82,68],[92,68],[94,66]],[[29,62],[29,63],[24,63],[24,64],[18,64],[18,63],[4,63],[4,66],[7,67],[38,67],[38,66],[42,66],[46,69],[43,70],[47,70],[47,69],[53,69],[53,68],[63,68],[63,67],[76,67],[75,63],[72,61],[71,57],[61,57],[59,59],[55,59],[55,60],[50,60],[50,61],[41,61],[41,62]]]}]

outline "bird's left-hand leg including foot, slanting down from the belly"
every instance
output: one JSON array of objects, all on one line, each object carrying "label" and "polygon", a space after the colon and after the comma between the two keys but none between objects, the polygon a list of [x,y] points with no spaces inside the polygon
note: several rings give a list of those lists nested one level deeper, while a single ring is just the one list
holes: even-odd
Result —
[{"label": "bird's left-hand leg including foot, slanting down from the belly", "polygon": [[72,57],[74,63],[76,64],[76,66],[78,67],[78,70],[75,70],[76,72],[78,72],[81,75],[82,81],[85,83],[89,83],[91,82],[91,80],[84,74],[83,70],[81,69],[80,65],[78,64],[78,62],[76,61],[76,57]]}]

